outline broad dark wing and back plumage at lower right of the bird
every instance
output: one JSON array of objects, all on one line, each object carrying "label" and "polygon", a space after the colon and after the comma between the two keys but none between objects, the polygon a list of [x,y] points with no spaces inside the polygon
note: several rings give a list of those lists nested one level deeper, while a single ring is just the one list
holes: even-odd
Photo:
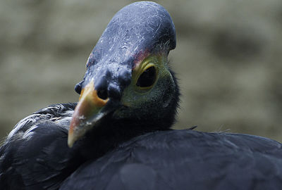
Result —
[{"label": "broad dark wing and back plumage at lower right of the bird", "polygon": [[136,137],[85,163],[61,189],[281,189],[281,144],[192,130]]}]

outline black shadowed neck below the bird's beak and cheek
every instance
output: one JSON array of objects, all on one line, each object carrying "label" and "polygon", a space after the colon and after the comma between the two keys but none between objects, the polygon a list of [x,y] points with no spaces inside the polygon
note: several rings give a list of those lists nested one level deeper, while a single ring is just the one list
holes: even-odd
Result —
[{"label": "black shadowed neck below the bird's beak and cheek", "polygon": [[[173,72],[171,72],[173,75]],[[99,158],[107,152],[116,148],[125,141],[149,132],[170,130],[175,122],[179,88],[175,75],[176,90],[166,110],[161,114],[146,115],[145,118],[123,118],[113,119],[111,115],[101,127],[92,129],[84,138],[80,139],[80,152],[86,159]]]}]

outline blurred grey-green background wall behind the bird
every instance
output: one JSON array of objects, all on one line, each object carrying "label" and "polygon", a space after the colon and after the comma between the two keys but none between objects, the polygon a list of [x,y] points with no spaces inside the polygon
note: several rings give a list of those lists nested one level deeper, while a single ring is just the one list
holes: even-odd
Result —
[{"label": "blurred grey-green background wall behind the bird", "polygon": [[[0,138],[73,87],[109,20],[128,0],[0,2]],[[282,141],[282,1],[156,1],[171,14],[180,80],[177,129]]]}]

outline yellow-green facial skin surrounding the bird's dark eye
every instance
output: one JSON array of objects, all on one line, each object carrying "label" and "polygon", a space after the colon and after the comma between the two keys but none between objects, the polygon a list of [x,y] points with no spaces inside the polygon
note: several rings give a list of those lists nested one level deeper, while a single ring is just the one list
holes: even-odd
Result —
[{"label": "yellow-green facial skin surrounding the bird's dark eye", "polygon": [[[150,87],[137,87],[136,82],[142,72],[152,66],[157,70],[154,84]],[[165,110],[169,103],[171,103],[173,98],[171,94],[175,94],[175,85],[171,72],[168,69],[166,56],[149,56],[145,58],[133,70],[131,83],[123,91],[121,104],[127,108],[116,110],[113,115],[114,118],[127,118],[129,115],[135,115],[135,113],[139,114],[138,117],[145,118],[148,116],[145,110],[150,110],[150,113],[154,113],[154,117],[161,116],[163,114],[162,110]],[[160,108],[161,105],[162,107]],[[143,111],[140,112],[139,110]]]}]

